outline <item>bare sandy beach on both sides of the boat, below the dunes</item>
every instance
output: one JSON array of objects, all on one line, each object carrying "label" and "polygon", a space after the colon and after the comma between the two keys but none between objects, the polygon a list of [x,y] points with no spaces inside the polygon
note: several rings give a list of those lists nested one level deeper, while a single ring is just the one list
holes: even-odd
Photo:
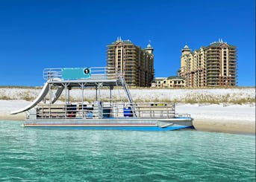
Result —
[{"label": "bare sandy beach on both sides of the boat, below the dunes", "polygon": [[[25,120],[26,114],[11,115],[10,111],[28,105],[25,100],[0,100],[0,120]],[[255,105],[177,104],[176,112],[189,113],[199,131],[255,134]]]}]

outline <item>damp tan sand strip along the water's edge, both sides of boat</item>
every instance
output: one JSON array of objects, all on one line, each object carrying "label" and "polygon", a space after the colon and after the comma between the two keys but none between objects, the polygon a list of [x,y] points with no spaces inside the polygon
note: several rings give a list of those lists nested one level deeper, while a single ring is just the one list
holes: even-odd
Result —
[{"label": "damp tan sand strip along the water's edge, both sides of boat", "polygon": [[[0,120],[6,121],[23,121],[25,117],[25,113],[11,115],[6,112],[1,112],[0,114]],[[255,134],[255,122],[250,120],[241,122],[241,120],[194,119],[193,126],[197,131]]]}]

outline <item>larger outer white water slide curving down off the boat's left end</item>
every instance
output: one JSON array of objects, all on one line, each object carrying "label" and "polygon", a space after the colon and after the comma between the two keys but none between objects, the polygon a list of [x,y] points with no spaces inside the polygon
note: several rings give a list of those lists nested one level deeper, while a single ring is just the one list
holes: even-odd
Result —
[{"label": "larger outer white water slide curving down off the boat's left end", "polygon": [[[20,108],[17,111],[12,111],[10,114],[18,114],[20,112],[28,111],[29,109],[33,108],[37,103],[40,103],[41,100],[43,100],[44,97],[46,97],[46,94],[49,92],[49,82],[46,82],[45,85],[43,86],[42,91],[40,94],[37,96],[37,98],[30,103],[29,105],[25,106],[24,108]],[[57,93],[56,93],[57,94]]]}]

